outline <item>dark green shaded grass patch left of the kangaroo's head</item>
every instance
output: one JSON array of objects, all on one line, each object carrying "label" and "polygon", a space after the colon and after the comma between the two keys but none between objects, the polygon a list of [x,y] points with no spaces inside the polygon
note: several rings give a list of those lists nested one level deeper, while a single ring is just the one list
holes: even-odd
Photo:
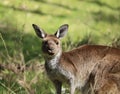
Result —
[{"label": "dark green shaded grass patch left of the kangaroo's head", "polygon": [[41,59],[41,41],[37,37],[31,34],[23,34],[16,30],[9,30],[8,28],[0,28],[0,33],[5,42],[3,43],[0,38],[0,53],[6,54],[7,48],[9,55],[22,51],[26,61],[33,58]]}]

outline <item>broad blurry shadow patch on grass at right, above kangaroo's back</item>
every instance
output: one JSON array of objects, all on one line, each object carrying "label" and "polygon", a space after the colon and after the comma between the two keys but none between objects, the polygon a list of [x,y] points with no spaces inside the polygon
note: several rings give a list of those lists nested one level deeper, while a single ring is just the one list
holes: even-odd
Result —
[{"label": "broad blurry shadow patch on grass at right, above kangaroo's back", "polygon": [[92,12],[95,21],[103,21],[108,23],[120,23],[120,14],[107,14],[102,11]]}]

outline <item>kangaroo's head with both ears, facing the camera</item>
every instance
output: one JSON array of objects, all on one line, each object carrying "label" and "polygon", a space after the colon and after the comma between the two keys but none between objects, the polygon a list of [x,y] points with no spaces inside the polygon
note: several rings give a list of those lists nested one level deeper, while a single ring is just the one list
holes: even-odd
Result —
[{"label": "kangaroo's head with both ears, facing the camera", "polygon": [[60,26],[57,32],[53,35],[47,34],[35,24],[33,24],[33,28],[37,36],[42,39],[42,51],[44,55],[51,57],[62,52],[60,38],[64,37],[67,33],[68,24]]}]

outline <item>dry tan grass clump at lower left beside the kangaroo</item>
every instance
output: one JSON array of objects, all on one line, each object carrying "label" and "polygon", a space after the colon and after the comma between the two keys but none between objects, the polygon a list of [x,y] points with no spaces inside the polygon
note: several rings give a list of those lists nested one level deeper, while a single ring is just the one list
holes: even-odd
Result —
[{"label": "dry tan grass clump at lower left beside the kangaroo", "polygon": [[[8,92],[16,94],[16,91],[11,88],[12,83],[14,83],[20,88],[23,88],[27,94],[36,94],[32,85],[38,82],[38,77],[44,72],[43,64],[40,64],[37,60],[31,60],[26,63],[22,53],[14,55],[13,57],[3,56],[1,61],[0,80],[6,83],[1,82],[0,84],[7,89]],[[30,78],[30,80],[28,80],[28,75],[26,75],[28,72],[34,72],[34,76]]]}]

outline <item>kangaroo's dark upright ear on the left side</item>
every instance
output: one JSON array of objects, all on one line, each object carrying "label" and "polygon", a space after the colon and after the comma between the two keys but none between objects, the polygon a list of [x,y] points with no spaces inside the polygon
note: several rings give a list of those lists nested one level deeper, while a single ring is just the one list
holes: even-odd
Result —
[{"label": "kangaroo's dark upright ear on the left side", "polygon": [[40,38],[46,37],[47,34],[42,29],[40,29],[37,25],[32,24],[32,26],[33,26],[38,37],[40,37]]}]

